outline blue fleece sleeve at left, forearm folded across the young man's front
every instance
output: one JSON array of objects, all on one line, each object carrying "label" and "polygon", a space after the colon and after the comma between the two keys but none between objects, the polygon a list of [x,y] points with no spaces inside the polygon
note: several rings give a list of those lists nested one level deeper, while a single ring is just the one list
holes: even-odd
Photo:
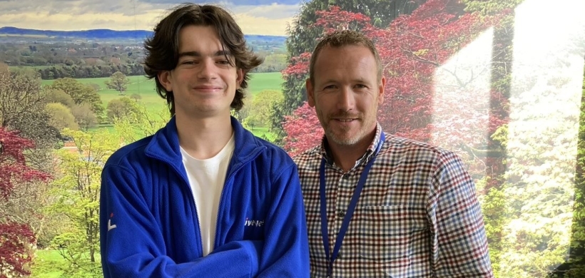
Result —
[{"label": "blue fleece sleeve at left, forearm folded across the young man's front", "polygon": [[[119,165],[102,172],[101,262],[108,277],[255,277],[262,242],[229,242],[193,262],[166,255],[161,227],[138,190],[137,177]],[[116,212],[116,223],[108,212]],[[120,225],[119,223],[124,223]]]}]

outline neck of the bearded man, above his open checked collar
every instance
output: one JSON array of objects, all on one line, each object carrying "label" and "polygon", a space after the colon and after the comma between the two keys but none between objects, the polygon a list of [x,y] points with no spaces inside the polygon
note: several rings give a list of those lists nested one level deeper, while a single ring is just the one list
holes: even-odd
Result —
[{"label": "neck of the bearded man, above his open checked collar", "polygon": [[327,143],[329,144],[329,149],[333,156],[333,162],[335,162],[335,165],[341,168],[343,172],[347,173],[355,166],[355,162],[366,153],[367,147],[372,144],[375,136],[376,130],[374,129],[370,134],[366,135],[362,140],[359,140],[353,145],[340,145],[327,138]]}]

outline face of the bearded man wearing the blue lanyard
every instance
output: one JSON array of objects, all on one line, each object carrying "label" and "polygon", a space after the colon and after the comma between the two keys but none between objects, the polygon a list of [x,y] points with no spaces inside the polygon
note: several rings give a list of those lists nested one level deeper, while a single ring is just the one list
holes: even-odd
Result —
[{"label": "face of the bearded man wearing the blue lanyard", "polygon": [[309,105],[329,143],[356,145],[376,128],[385,78],[377,79],[374,54],[365,46],[322,48],[315,61],[314,85],[307,81]]}]

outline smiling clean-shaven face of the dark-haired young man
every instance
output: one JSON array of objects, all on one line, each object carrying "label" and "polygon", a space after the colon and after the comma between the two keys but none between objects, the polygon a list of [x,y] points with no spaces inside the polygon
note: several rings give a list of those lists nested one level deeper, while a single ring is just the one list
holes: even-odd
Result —
[{"label": "smiling clean-shaven face of the dark-haired young man", "polygon": [[[225,51],[228,51],[225,49]],[[179,117],[229,115],[235,90],[240,88],[243,71],[232,64],[211,26],[184,26],[179,31],[179,59],[172,71],[159,73],[167,91],[175,96]]]}]

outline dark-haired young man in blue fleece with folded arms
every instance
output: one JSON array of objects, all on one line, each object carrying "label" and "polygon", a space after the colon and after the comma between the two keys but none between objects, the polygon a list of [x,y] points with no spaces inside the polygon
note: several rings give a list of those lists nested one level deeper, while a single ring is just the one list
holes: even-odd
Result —
[{"label": "dark-haired young man in blue fleece with folded arms", "polygon": [[173,118],[103,168],[104,277],[308,277],[295,164],[230,117],[261,63],[238,25],[183,4],[145,46]]}]

